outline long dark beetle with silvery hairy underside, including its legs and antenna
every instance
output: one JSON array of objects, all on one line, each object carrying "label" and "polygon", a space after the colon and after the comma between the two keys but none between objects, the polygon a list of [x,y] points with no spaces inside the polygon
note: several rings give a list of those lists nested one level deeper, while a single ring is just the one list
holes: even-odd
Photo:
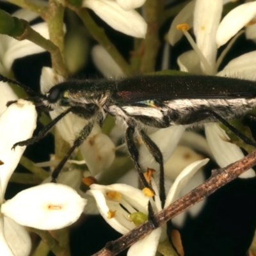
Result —
[{"label": "long dark beetle with silvery hairy underside, including its legs and antenna", "polygon": [[[1,76],[1,81],[20,83]],[[29,90],[27,90],[28,93]],[[139,153],[134,142],[136,129],[148,151],[160,166],[163,182],[163,154],[143,130],[145,125],[164,128],[170,125],[201,125],[222,122],[246,143],[256,144],[237,131],[227,120],[240,118],[256,107],[256,83],[217,76],[138,76],[119,80],[71,80],[56,84],[46,95],[33,95],[29,100],[41,110],[51,111],[57,106],[69,107],[29,140],[17,142],[13,147],[29,145],[40,140],[67,113],[72,112],[88,120],[88,124],[74,141],[67,156],[52,173],[56,179],[73,150],[81,145],[92,131],[95,122],[102,122],[107,114],[125,122],[125,141],[129,154],[145,187],[150,188],[138,163]],[[150,166],[148,166],[150,167]],[[160,191],[164,202],[164,188]]]}]

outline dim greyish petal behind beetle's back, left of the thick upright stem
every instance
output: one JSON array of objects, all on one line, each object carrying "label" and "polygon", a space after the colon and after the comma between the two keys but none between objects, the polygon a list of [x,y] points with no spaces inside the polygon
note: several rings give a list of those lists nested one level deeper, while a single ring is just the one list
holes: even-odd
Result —
[{"label": "dim greyish petal behind beetle's back, left of the thick upright stem", "polygon": [[104,77],[124,77],[122,69],[101,45],[95,45],[93,47],[92,60]]}]

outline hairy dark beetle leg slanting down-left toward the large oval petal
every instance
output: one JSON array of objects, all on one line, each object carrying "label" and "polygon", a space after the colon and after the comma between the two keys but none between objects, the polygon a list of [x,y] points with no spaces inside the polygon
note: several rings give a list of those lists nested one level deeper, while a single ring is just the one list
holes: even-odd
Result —
[{"label": "hairy dark beetle leg slanting down-left toward the large oval petal", "polygon": [[89,134],[91,133],[93,128],[93,123],[89,122],[88,124],[86,124],[84,126],[84,128],[82,129],[82,131],[79,133],[79,136],[77,137],[77,139],[74,141],[73,146],[68,150],[67,154],[65,157],[63,157],[63,159],[60,161],[60,163],[58,164],[58,166],[54,169],[54,171],[52,172],[52,182],[56,182],[56,179],[61,171],[61,169],[63,168],[64,164],[67,162],[68,158],[70,157],[70,155],[74,152],[74,150],[79,147],[84,140],[86,140],[86,138],[89,136]]}]

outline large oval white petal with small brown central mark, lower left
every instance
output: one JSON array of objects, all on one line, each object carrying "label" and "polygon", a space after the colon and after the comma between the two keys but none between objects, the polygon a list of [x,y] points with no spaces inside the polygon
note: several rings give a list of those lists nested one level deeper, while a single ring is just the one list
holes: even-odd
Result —
[{"label": "large oval white petal with small brown central mark, lower left", "polygon": [[74,189],[47,183],[21,191],[1,205],[1,212],[20,225],[54,230],[74,223],[85,205]]}]

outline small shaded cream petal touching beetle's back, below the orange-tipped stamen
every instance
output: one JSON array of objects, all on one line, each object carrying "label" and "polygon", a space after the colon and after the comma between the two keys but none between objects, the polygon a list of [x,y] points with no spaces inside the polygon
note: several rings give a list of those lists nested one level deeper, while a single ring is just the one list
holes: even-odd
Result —
[{"label": "small shaded cream petal touching beetle's back, below the orange-tipped stamen", "polygon": [[180,71],[190,72],[195,74],[203,74],[200,60],[194,50],[184,52],[178,57],[178,65]]}]

